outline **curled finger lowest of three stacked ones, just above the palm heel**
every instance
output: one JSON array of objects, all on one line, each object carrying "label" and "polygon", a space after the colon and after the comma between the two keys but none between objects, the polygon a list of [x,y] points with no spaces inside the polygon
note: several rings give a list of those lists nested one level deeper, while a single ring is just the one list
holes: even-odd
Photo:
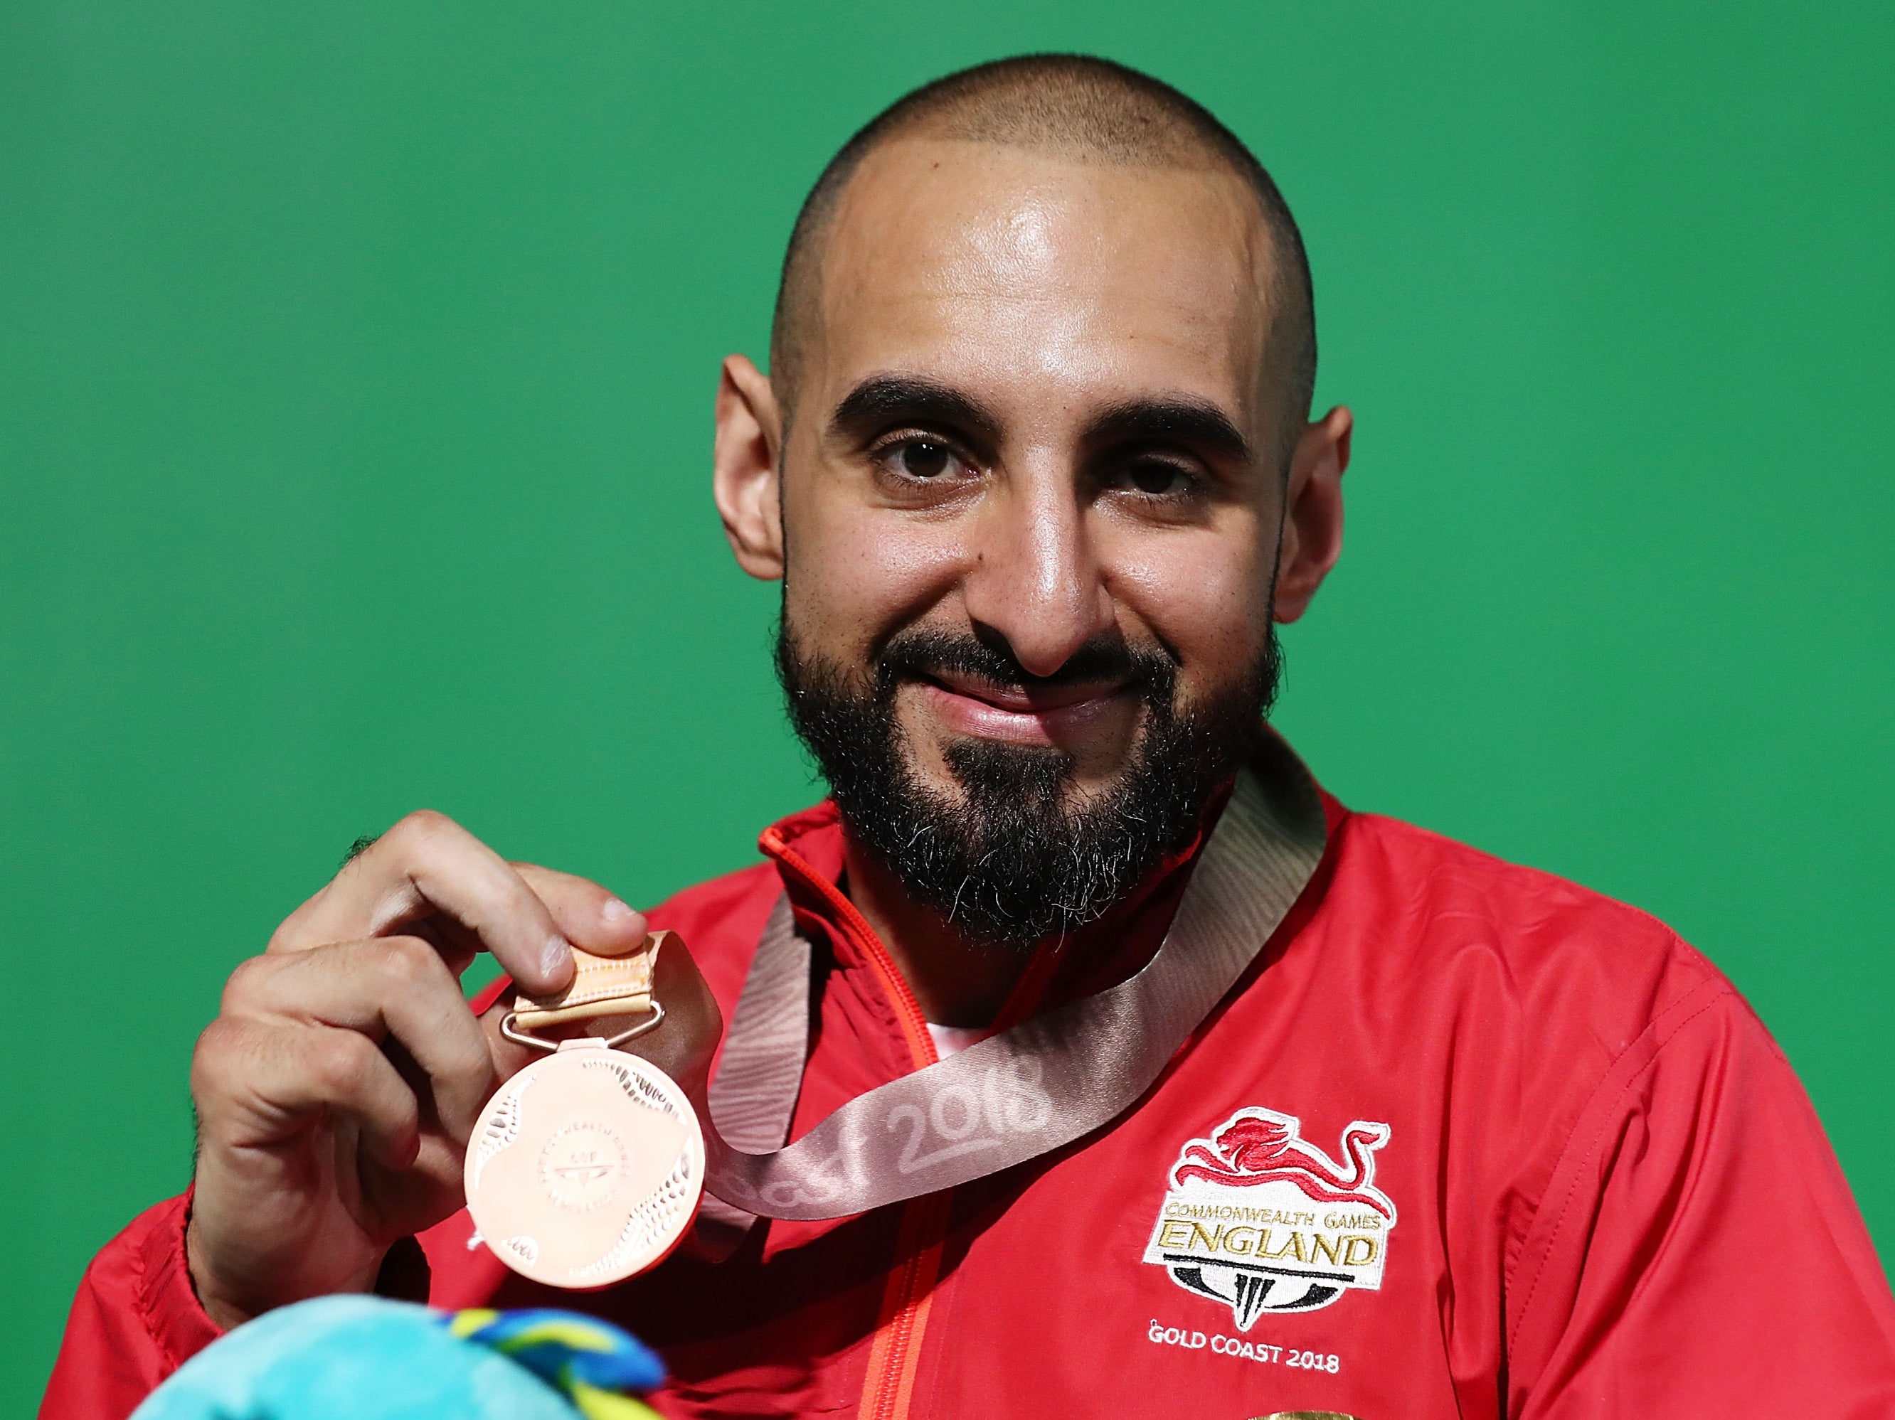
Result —
[{"label": "curled finger lowest of three stacked ones, just above the palm heel", "polygon": [[421,1149],[415,1092],[356,1030],[218,1017],[197,1041],[191,1098],[205,1140],[235,1149],[280,1144],[324,1109],[352,1121],[390,1168]]}]

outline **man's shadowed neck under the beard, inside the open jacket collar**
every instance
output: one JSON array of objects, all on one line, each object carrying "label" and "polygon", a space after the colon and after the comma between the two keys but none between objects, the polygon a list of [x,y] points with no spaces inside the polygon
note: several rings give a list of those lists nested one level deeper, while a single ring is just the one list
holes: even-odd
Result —
[{"label": "man's shadowed neck under the beard, inside the open jacket collar", "polygon": [[843,833],[849,901],[881,937],[921,1015],[938,1026],[993,1024],[1033,960],[1014,947],[974,947],[940,913],[923,907],[881,860]]}]

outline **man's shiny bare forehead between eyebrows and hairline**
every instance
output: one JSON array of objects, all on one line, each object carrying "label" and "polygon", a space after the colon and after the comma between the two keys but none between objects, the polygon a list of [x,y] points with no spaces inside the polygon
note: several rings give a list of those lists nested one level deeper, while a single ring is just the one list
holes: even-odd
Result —
[{"label": "man's shiny bare forehead between eyebrows and hairline", "polygon": [[811,394],[915,371],[1042,413],[1169,392],[1254,424],[1268,263],[1256,199],[1222,167],[900,138],[838,203]]}]

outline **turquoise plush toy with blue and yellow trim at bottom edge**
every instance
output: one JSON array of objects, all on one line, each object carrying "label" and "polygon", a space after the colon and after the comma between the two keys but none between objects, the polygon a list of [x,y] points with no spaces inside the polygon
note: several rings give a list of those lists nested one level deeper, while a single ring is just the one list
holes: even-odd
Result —
[{"label": "turquoise plush toy with blue and yellow trim at bottom edge", "polygon": [[591,1316],[318,1297],[207,1346],[133,1420],[658,1420],[633,1395],[663,1378]]}]

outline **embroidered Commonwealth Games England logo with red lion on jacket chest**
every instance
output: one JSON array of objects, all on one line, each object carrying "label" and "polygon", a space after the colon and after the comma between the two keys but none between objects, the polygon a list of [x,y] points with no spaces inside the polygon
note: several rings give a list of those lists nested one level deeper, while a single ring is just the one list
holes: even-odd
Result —
[{"label": "embroidered Commonwealth Games England logo with red lion on jacket chest", "polygon": [[1389,1127],[1342,1130],[1338,1164],[1302,1121],[1237,1109],[1171,1164],[1145,1261],[1186,1291],[1226,1303],[1239,1331],[1264,1312],[1313,1312],[1349,1287],[1381,1287],[1395,1204],[1376,1187]]}]

